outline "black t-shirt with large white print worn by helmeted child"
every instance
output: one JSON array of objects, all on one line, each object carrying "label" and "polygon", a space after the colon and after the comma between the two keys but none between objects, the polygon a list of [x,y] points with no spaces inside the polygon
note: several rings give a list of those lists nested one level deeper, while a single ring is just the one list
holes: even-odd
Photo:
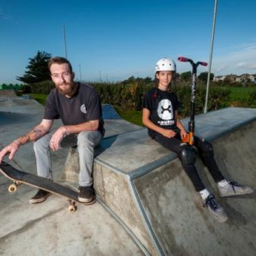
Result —
[{"label": "black t-shirt with large white print worn by helmeted child", "polygon": [[[175,124],[175,111],[181,107],[175,93],[153,88],[145,94],[143,99],[143,108],[150,111],[149,120],[163,129],[177,130]],[[156,131],[148,128],[148,134],[154,139]]]}]

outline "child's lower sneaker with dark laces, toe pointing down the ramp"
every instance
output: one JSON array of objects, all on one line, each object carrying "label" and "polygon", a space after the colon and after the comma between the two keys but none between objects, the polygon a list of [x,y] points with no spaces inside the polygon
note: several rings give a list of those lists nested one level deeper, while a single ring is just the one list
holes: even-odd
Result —
[{"label": "child's lower sneaker with dark laces, toe pointing down the ramp", "polygon": [[210,194],[203,204],[203,207],[207,207],[211,215],[220,223],[227,221],[228,217],[224,209],[217,203],[215,196]]}]

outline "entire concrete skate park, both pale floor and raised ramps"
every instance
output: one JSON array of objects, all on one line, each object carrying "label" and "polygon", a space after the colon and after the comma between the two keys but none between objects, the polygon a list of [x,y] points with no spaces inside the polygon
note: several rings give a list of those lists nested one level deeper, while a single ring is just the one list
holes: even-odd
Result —
[{"label": "entire concrete skate park, both pale floor and raised ramps", "polygon": [[[1,175],[0,254],[256,254],[255,193],[219,198],[215,182],[198,159],[201,178],[229,215],[219,224],[202,207],[175,154],[152,141],[144,127],[122,120],[111,105],[102,108],[106,134],[96,148],[96,203],[79,204],[76,212],[69,212],[66,198],[52,195],[31,205],[35,188],[23,184],[11,194],[11,181]],[[33,99],[0,95],[1,148],[31,130],[43,113],[44,107]],[[187,126],[187,119],[182,123]],[[256,189],[256,109],[224,108],[197,115],[196,132],[212,142],[228,179]],[[76,190],[76,149],[52,154],[54,180]],[[14,161],[5,161],[36,174],[32,144],[20,148]]]}]

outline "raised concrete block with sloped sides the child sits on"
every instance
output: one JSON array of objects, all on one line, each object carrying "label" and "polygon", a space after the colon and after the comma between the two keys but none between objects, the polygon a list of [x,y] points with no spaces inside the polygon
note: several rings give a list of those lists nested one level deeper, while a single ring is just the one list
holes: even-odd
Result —
[{"label": "raised concrete block with sloped sides the child sits on", "polygon": [[[198,115],[196,124],[197,134],[214,145],[215,158],[227,178],[253,187],[256,109],[212,111]],[[75,151],[69,153],[62,178],[77,181],[78,155]],[[74,165],[70,165],[72,161]],[[206,186],[216,192],[212,177],[202,172],[203,164],[197,162]],[[145,254],[256,252],[255,196],[221,199],[230,220],[227,224],[216,224],[202,208],[202,201],[176,155],[152,141],[146,129],[105,138],[97,148],[93,176],[100,202],[136,239]]]}]

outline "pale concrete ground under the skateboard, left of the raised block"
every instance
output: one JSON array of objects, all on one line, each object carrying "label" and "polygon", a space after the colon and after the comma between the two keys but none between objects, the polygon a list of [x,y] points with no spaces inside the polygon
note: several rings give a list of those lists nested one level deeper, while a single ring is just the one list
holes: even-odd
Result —
[{"label": "pale concrete ground under the skateboard, left of the raised block", "polygon": [[[34,100],[0,97],[0,148],[27,133],[40,122],[44,108]],[[114,117],[114,114],[111,114]],[[108,118],[111,118],[108,117]],[[106,136],[141,127],[124,120],[105,120],[114,130]],[[56,121],[55,126],[59,124]],[[117,129],[119,127],[119,130]],[[69,149],[53,153],[53,175],[57,180]],[[8,161],[8,158],[5,158]],[[10,162],[9,162],[10,163]],[[25,172],[36,173],[32,144],[17,152],[12,165]],[[68,212],[64,197],[51,196],[46,202],[30,205],[36,190],[20,186],[8,193],[11,181],[0,175],[0,254],[2,255],[143,255],[141,248],[120,224],[98,202],[93,206],[78,205]]]}]

